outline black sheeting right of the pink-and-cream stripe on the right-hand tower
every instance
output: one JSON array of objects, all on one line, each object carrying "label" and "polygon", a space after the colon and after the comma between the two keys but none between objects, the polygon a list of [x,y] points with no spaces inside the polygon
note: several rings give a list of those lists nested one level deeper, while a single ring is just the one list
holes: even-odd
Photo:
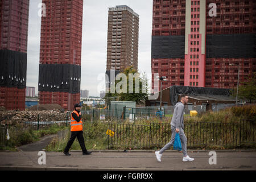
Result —
[{"label": "black sheeting right of the pink-and-cream stripe on the right-hand tower", "polygon": [[206,57],[256,57],[256,34],[207,35]]}]

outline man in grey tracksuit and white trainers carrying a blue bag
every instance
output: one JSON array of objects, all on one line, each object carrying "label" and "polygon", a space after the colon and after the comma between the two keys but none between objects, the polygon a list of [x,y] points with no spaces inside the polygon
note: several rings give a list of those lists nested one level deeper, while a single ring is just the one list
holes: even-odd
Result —
[{"label": "man in grey tracksuit and white trainers carrying a blue bag", "polygon": [[172,137],[171,141],[167,143],[160,151],[156,151],[156,159],[158,162],[161,162],[161,157],[163,155],[163,152],[174,145],[175,135],[176,133],[179,133],[180,135],[180,141],[181,141],[181,147],[183,151],[183,161],[193,161],[193,158],[189,158],[187,155],[187,137],[184,134],[184,105],[188,103],[188,96],[185,94],[182,94],[180,96],[180,102],[177,102],[177,104],[174,107],[174,115],[172,116],[171,121],[171,131],[172,131]]}]

